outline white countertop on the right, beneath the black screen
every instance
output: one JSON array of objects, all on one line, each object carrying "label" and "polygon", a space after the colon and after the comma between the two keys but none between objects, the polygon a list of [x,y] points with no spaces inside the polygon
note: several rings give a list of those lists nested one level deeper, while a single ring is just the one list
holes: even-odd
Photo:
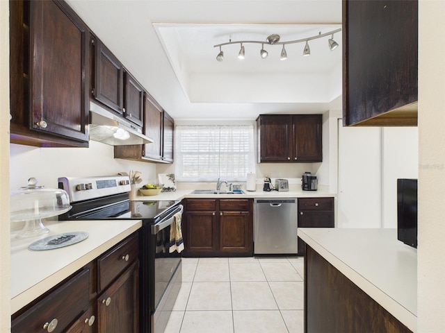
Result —
[{"label": "white countertop on the right, beneath the black screen", "polygon": [[417,250],[396,229],[298,228],[298,237],[416,332]]}]

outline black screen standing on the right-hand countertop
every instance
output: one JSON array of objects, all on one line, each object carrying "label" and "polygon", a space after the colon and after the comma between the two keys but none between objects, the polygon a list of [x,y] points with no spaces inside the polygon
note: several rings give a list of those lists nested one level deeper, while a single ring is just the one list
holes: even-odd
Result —
[{"label": "black screen standing on the right-hand countertop", "polygon": [[397,239],[417,248],[417,180],[397,180]]}]

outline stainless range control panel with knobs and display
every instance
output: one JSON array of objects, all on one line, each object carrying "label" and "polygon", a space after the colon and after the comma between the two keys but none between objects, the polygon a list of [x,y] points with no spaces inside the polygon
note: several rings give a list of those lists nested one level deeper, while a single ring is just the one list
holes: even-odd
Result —
[{"label": "stainless range control panel with knobs and display", "polygon": [[129,176],[60,177],[58,188],[67,191],[70,203],[131,191]]}]

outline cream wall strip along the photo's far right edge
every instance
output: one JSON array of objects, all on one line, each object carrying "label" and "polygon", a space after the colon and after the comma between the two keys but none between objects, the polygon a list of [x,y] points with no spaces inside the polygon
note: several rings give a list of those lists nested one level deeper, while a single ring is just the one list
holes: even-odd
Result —
[{"label": "cream wall strip along the photo's far right edge", "polygon": [[419,1],[417,331],[445,332],[445,1]]}]

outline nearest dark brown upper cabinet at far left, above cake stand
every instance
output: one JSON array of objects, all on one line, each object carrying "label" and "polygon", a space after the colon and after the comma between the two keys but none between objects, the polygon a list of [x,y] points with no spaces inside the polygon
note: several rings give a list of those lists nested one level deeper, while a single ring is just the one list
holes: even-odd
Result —
[{"label": "nearest dark brown upper cabinet at far left, above cake stand", "polygon": [[64,1],[10,1],[10,141],[88,147],[90,32]]}]

